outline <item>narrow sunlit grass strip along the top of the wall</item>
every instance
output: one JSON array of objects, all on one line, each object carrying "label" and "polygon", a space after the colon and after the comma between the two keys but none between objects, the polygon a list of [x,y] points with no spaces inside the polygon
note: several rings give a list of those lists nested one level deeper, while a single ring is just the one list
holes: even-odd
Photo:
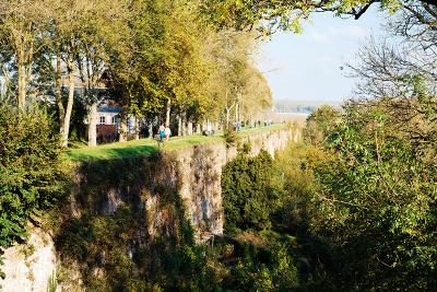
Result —
[{"label": "narrow sunlit grass strip along the top of the wall", "polygon": [[[286,128],[286,124],[276,124],[268,127],[259,128],[243,128],[238,135],[246,136],[256,132],[262,132],[267,130],[280,130]],[[158,150],[173,151],[184,149],[194,144],[209,143],[222,141],[221,133],[214,136],[186,136],[186,137],[173,137],[168,142],[158,147],[156,140],[152,139],[140,139],[128,142],[117,142],[103,144],[95,148],[88,148],[86,145],[74,144],[74,149],[70,149],[67,153],[68,157],[73,161],[90,161],[90,160],[114,160],[122,157],[133,156],[146,156],[156,153]]]}]

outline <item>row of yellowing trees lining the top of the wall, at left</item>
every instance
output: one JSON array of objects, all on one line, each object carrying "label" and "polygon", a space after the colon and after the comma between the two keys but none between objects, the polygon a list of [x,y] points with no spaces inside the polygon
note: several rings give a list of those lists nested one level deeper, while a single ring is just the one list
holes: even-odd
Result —
[{"label": "row of yellowing trees lining the top of the wall, at left", "polygon": [[[250,57],[255,36],[217,32],[201,15],[201,5],[182,0],[4,2],[2,100],[22,109],[35,100],[55,105],[63,147],[78,104],[87,113],[90,145],[96,144],[97,107],[107,101],[122,108],[121,132],[129,115],[152,118],[165,112],[169,122],[173,110],[185,121],[201,122],[231,110],[238,112],[236,118],[262,110],[271,96]],[[225,74],[225,68],[234,69]],[[226,87],[225,96],[216,84]],[[246,100],[251,102],[243,105]]]}]

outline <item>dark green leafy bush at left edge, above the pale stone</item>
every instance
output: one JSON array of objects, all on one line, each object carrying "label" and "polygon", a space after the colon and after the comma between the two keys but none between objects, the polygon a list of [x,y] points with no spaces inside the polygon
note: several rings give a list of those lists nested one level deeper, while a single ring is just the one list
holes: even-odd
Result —
[{"label": "dark green leafy bush at left edge, above the pale stone", "polygon": [[44,110],[0,104],[0,248],[23,238],[28,218],[63,194],[69,167],[51,130]]}]

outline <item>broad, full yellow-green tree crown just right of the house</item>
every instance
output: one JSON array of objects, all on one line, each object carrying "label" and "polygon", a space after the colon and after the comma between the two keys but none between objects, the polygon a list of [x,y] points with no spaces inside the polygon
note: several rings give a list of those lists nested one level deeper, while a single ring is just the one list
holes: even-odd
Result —
[{"label": "broad, full yellow-green tree crown just right of the house", "polygon": [[163,0],[131,9],[137,11],[128,24],[132,37],[115,47],[109,63],[111,87],[119,87],[125,115],[143,117],[164,109],[169,124],[172,108],[187,116],[193,104],[201,104],[209,70],[201,40],[208,28],[202,30],[192,5]]}]

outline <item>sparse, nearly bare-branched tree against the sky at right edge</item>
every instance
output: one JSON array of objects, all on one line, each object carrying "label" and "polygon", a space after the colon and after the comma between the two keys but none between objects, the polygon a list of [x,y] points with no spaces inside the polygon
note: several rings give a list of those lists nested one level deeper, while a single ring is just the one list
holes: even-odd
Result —
[{"label": "sparse, nearly bare-branched tree against the sky at right edge", "polygon": [[398,37],[394,45],[370,39],[361,49],[358,62],[350,65],[351,75],[359,78],[354,103],[383,105],[399,129],[422,148],[435,132],[429,122],[435,121],[437,55],[434,45],[428,46],[428,37],[435,33],[412,37],[398,28],[391,26],[404,39]]}]

